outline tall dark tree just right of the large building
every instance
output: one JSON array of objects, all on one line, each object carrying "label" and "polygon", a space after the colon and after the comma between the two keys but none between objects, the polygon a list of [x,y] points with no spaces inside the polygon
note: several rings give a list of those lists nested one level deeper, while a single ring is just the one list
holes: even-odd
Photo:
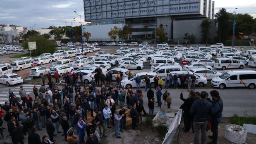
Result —
[{"label": "tall dark tree just right of the large building", "polygon": [[230,29],[232,29],[230,13],[225,8],[222,8],[215,14],[215,18],[215,22],[218,24],[217,40],[224,43],[228,39]]}]

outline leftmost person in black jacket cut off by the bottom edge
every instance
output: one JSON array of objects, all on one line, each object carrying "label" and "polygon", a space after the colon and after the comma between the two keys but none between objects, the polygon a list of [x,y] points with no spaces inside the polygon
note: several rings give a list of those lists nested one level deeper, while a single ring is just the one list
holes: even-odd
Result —
[{"label": "leftmost person in black jacket cut off by the bottom edge", "polygon": [[23,126],[20,126],[19,122],[17,122],[15,126],[16,127],[12,131],[12,142],[13,144],[24,144]]}]

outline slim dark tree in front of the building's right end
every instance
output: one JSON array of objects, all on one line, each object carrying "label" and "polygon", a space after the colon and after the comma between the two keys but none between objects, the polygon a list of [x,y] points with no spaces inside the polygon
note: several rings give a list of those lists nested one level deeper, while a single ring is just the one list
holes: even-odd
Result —
[{"label": "slim dark tree in front of the building's right end", "polygon": [[208,18],[206,18],[205,20],[202,21],[202,23],[200,24],[200,27],[201,27],[201,33],[203,36],[202,41],[206,42],[206,47],[207,47],[208,39],[210,36],[211,21],[209,21]]}]

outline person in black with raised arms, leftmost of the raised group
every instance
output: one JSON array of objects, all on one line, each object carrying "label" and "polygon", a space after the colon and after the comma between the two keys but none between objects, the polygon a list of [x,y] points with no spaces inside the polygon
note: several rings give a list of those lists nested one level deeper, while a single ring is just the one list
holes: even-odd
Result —
[{"label": "person in black with raised arms, leftmost of the raised group", "polygon": [[187,98],[187,99],[183,98],[182,92],[183,91],[181,91],[181,93],[180,93],[180,99],[184,103],[179,107],[179,109],[183,109],[183,111],[184,111],[184,113],[183,113],[184,126],[185,126],[184,131],[188,132],[190,130],[190,127],[192,126],[192,131],[194,132],[194,128],[193,128],[193,125],[192,125],[193,116],[190,115],[190,108],[191,108],[193,102],[196,100],[195,92],[194,92],[194,90],[191,90],[190,93],[189,93],[189,98]]}]

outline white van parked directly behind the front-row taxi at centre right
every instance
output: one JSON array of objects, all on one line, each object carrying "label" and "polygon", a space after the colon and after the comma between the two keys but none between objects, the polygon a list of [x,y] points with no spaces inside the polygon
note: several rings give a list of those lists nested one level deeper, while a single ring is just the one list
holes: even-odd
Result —
[{"label": "white van parked directly behind the front-row taxi at centre right", "polygon": [[152,73],[157,73],[157,76],[164,77],[167,75],[167,73],[170,73],[172,71],[182,71],[181,66],[161,66],[160,68],[157,68],[154,71],[151,71]]}]

